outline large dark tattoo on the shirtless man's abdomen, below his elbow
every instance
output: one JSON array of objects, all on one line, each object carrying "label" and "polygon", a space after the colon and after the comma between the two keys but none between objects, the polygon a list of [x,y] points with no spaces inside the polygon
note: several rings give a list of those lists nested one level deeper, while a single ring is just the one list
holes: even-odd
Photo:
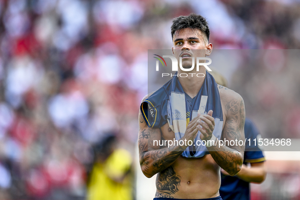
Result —
[{"label": "large dark tattoo on the shirtless man's abdomen, below his elbow", "polygon": [[161,193],[175,194],[179,189],[180,176],[177,176],[172,166],[161,171],[156,178],[156,188]]}]

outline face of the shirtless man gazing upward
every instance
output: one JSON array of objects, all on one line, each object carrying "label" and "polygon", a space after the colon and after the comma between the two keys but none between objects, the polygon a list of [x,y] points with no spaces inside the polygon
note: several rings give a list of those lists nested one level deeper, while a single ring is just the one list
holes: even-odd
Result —
[{"label": "face of the shirtless man gazing upward", "polygon": [[[196,50],[196,51],[195,51]],[[196,63],[196,57],[210,55],[212,44],[208,44],[205,34],[198,29],[184,28],[177,30],[173,37],[172,51],[179,63],[182,57],[182,67],[190,68],[192,57]]]}]

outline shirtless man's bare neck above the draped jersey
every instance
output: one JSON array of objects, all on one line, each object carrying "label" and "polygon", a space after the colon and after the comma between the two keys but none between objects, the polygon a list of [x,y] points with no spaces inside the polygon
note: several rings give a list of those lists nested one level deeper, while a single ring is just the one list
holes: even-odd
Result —
[{"label": "shirtless man's bare neck above the draped jersey", "polygon": [[[196,75],[199,74],[199,73],[203,73],[205,74],[206,76],[206,70],[205,68],[200,68],[199,69],[199,72],[183,72],[183,71],[178,71],[178,74],[180,73],[186,73],[188,74],[187,77],[180,77],[178,76],[178,80],[183,88],[183,91],[189,95],[191,98],[195,97],[199,90],[201,89],[203,83],[204,83],[204,80],[205,80],[205,77],[197,77]],[[194,73],[193,74],[193,77],[191,77],[191,74],[189,73]],[[199,76],[203,76],[203,75],[199,75]]]}]

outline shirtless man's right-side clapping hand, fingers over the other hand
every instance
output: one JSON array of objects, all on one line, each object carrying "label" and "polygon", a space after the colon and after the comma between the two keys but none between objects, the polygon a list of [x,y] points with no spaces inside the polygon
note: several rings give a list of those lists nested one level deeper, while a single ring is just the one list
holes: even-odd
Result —
[{"label": "shirtless man's right-side clapping hand, fingers over the other hand", "polygon": [[210,110],[207,115],[198,115],[199,119],[197,120],[197,130],[201,132],[201,140],[208,141],[212,138],[215,128],[215,119],[212,116],[212,110]]}]

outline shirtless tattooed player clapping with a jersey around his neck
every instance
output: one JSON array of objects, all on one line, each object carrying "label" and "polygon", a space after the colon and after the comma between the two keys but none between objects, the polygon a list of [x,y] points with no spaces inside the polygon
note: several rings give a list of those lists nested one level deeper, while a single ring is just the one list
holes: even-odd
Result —
[{"label": "shirtless tattooed player clapping with a jersey around his neck", "polygon": [[[209,34],[208,23],[201,15],[173,20],[172,50],[177,60],[181,57],[184,69],[191,69],[195,57],[210,55],[213,45]],[[182,72],[179,68],[178,74]],[[205,77],[174,76],[145,96],[141,104],[140,164],[146,177],[157,174],[155,200],[222,199],[220,167],[231,176],[242,168],[244,146],[218,144],[224,139],[245,140],[243,98],[235,91],[219,88],[205,66],[190,73],[203,73]],[[169,147],[155,143],[163,140],[178,143]]]}]

